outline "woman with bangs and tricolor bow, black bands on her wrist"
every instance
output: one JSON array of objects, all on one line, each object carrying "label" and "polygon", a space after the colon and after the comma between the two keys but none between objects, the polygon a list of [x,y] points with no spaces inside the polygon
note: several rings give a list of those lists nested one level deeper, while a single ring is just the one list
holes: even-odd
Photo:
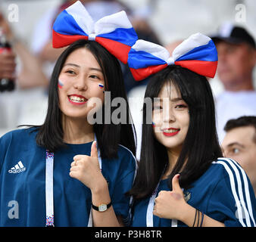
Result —
[{"label": "woman with bangs and tricolor bow, black bands on her wrist", "polygon": [[145,90],[142,150],[130,195],[132,226],[255,226],[256,200],[245,171],[223,158],[215,126],[217,51],[201,33],[167,49],[138,40],[128,64]]}]

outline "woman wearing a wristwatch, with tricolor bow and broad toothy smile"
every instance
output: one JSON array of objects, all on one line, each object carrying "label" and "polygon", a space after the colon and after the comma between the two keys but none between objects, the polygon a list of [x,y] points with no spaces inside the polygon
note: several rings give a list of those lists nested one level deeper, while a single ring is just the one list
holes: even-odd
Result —
[{"label": "woman wearing a wristwatch, with tricolor bow and broad toothy smile", "polygon": [[[94,23],[76,2],[52,39],[70,46],[52,73],[45,122],[0,138],[0,226],[125,225],[136,142],[117,58],[126,63],[136,33],[124,11]],[[114,98],[126,102],[126,122],[111,119]],[[89,121],[98,113],[101,122]]]}]

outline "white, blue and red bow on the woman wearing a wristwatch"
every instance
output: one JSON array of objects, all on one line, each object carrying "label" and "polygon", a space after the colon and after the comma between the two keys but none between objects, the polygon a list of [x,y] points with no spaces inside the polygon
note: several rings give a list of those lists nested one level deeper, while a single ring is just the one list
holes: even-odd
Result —
[{"label": "white, blue and red bow on the woman wearing a wristwatch", "polygon": [[78,39],[98,42],[126,64],[130,48],[138,36],[125,11],[94,22],[83,4],[77,1],[56,18],[52,29],[52,46],[61,48]]}]

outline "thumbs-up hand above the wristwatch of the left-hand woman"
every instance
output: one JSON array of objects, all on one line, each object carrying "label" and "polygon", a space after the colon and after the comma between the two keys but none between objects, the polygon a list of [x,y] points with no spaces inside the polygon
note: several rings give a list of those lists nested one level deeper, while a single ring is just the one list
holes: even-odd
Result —
[{"label": "thumbs-up hand above the wristwatch of the left-hand woman", "polygon": [[70,177],[82,182],[91,191],[97,189],[101,182],[106,182],[98,164],[97,142],[92,142],[91,155],[76,155],[70,168]]}]

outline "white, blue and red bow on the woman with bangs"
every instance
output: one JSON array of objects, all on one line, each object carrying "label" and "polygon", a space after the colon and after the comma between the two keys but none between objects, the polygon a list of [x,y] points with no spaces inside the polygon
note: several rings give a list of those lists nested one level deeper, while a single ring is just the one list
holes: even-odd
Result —
[{"label": "white, blue and red bow on the woman with bangs", "polygon": [[202,76],[213,78],[217,69],[217,50],[208,36],[195,33],[173,50],[139,39],[128,55],[128,65],[137,81],[158,73],[168,65],[185,67]]}]

